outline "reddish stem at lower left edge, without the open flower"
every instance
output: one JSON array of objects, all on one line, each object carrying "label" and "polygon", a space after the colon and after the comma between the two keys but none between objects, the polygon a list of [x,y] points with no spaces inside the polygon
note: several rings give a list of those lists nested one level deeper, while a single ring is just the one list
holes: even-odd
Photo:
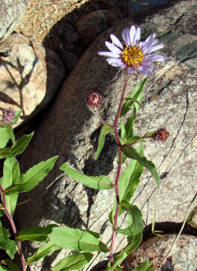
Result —
[{"label": "reddish stem at lower left edge, without the open flower", "polygon": [[[8,212],[8,209],[6,208],[6,197],[5,195],[3,194],[4,193],[4,190],[3,190],[3,187],[1,186],[0,184],[0,191],[1,191],[1,195],[2,195],[2,203],[3,203],[3,211],[5,212],[5,214],[7,215],[9,221],[10,221],[10,224],[11,224],[11,227],[12,227],[12,230],[16,236],[16,238],[18,237],[18,232],[16,230],[16,227],[15,227],[15,224],[14,224],[14,221],[13,221],[13,218],[11,216],[11,214]],[[22,252],[22,248],[21,248],[21,242],[17,241],[17,245],[18,245],[18,253],[21,257],[21,261],[22,261],[22,264],[23,264],[23,271],[26,271],[27,269],[27,266],[26,266],[26,263],[25,263],[25,258],[23,256],[23,252]]]}]

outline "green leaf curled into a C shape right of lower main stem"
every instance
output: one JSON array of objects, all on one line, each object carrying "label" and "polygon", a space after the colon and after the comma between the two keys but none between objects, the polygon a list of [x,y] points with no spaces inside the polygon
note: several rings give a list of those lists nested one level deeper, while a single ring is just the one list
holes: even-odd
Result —
[{"label": "green leaf curled into a C shape right of lower main stem", "polygon": [[140,233],[144,228],[142,212],[136,205],[132,205],[124,200],[121,201],[119,205],[123,211],[126,211],[129,216],[132,217],[132,224],[125,229],[114,229],[114,231],[125,235],[136,235]]}]

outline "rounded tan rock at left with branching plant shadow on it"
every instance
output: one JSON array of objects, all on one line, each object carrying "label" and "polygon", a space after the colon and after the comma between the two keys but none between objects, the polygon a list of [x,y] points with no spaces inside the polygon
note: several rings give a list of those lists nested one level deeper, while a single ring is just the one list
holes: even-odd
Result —
[{"label": "rounded tan rock at left with branching plant shadow on it", "polygon": [[[0,43],[0,108],[23,109],[19,124],[36,115],[53,98],[65,69],[58,56],[22,34]],[[16,125],[15,125],[16,126]]]}]

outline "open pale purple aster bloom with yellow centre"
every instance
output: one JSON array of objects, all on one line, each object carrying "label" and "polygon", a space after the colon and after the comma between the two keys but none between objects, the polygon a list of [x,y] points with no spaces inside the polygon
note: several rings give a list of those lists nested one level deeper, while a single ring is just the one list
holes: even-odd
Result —
[{"label": "open pale purple aster bloom with yellow centre", "polygon": [[126,69],[130,75],[133,75],[134,71],[137,70],[141,74],[152,76],[153,73],[150,70],[160,68],[147,63],[165,60],[165,57],[159,54],[146,55],[164,47],[163,44],[155,45],[159,41],[154,39],[155,35],[153,33],[144,42],[139,42],[141,29],[139,27],[135,29],[135,26],[132,25],[130,30],[129,28],[123,30],[124,42],[122,43],[111,34],[112,43],[105,42],[111,52],[99,52],[99,55],[107,57],[106,60],[110,65]]}]

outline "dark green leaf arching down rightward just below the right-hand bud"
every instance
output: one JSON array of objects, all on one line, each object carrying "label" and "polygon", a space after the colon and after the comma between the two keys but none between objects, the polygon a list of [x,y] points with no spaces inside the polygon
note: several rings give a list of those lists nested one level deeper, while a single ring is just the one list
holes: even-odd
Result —
[{"label": "dark green leaf arching down rightward just below the right-hand bud", "polygon": [[157,189],[159,191],[160,181],[159,175],[153,162],[148,161],[145,156],[141,156],[132,146],[120,148],[120,150],[130,159],[137,160],[140,165],[146,167],[155,178],[157,182]]}]

